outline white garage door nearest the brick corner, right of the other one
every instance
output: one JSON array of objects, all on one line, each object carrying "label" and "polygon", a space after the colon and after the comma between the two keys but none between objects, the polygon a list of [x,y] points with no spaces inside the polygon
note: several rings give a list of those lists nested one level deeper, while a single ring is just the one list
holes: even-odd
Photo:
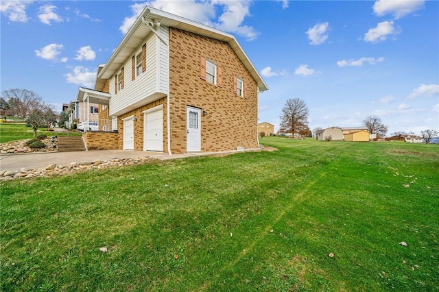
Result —
[{"label": "white garage door nearest the brick corner, right of the other one", "polygon": [[163,109],[145,112],[144,151],[163,151]]}]

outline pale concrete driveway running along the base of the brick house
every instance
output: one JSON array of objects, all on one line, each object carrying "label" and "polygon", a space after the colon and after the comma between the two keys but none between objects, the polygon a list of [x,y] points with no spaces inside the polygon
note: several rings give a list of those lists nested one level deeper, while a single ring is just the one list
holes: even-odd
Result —
[{"label": "pale concrete driveway running along the base of the brick house", "polygon": [[[257,151],[259,149],[246,149],[246,151]],[[69,165],[71,162],[92,162],[93,160],[110,160],[124,158],[156,158],[169,160],[193,156],[211,156],[217,154],[233,154],[242,151],[223,151],[223,152],[202,152],[187,154],[163,154],[154,151],[133,151],[133,150],[93,150],[93,151],[73,151],[73,152],[40,152],[30,154],[1,154],[0,171],[21,171],[29,169],[39,169],[47,165]]]}]

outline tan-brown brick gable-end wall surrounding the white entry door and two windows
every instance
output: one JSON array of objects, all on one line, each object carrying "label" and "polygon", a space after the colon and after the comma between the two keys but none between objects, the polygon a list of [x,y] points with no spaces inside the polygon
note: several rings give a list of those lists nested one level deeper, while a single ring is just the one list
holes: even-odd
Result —
[{"label": "tan-brown brick gable-end wall surrounding the white entry door and two windows", "polygon": [[[186,151],[186,108],[201,117],[201,150],[257,147],[257,83],[227,42],[169,28],[171,151]],[[200,56],[222,67],[222,86],[200,78]],[[246,97],[234,92],[234,77],[244,80]]]}]

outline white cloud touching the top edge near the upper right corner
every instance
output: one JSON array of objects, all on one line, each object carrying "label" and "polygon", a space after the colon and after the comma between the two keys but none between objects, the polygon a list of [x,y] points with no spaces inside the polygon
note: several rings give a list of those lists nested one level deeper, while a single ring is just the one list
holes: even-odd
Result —
[{"label": "white cloud touching the top edge near the upper right corner", "polygon": [[401,19],[401,17],[423,8],[424,3],[424,0],[378,0],[373,5],[373,12],[377,16],[393,14],[395,19]]}]

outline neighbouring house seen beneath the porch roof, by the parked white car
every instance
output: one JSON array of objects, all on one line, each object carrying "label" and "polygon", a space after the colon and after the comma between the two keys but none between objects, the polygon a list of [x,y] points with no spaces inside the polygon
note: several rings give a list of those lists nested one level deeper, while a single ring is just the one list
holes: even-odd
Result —
[{"label": "neighbouring house seen beneath the porch roof, by the parked white car", "polygon": [[[80,88],[81,90],[82,88]],[[69,115],[67,127],[77,125],[78,130],[98,130],[99,105],[91,104],[82,100],[73,100],[66,110]]]}]

